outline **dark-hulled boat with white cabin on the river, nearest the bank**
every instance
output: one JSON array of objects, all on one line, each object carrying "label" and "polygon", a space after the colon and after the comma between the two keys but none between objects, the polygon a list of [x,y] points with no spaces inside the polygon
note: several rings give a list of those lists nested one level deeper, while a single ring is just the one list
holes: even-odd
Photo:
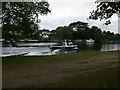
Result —
[{"label": "dark-hulled boat with white cabin on the river, nearest the bank", "polygon": [[70,40],[67,42],[66,40],[62,43],[61,46],[49,46],[51,50],[61,49],[61,50],[77,50],[77,45],[74,45]]}]

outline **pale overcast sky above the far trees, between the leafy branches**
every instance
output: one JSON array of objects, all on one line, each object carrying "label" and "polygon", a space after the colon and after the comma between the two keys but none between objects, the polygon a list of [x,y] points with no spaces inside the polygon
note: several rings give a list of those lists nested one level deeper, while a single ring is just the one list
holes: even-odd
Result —
[{"label": "pale overcast sky above the far trees, between the leafy branches", "polygon": [[106,31],[118,33],[118,17],[111,18],[112,24],[105,26],[104,21],[87,20],[90,11],[96,9],[95,0],[48,0],[51,13],[47,16],[39,16],[41,19],[40,29],[53,30],[59,26],[68,26],[72,22],[87,22],[89,27],[98,26]]}]

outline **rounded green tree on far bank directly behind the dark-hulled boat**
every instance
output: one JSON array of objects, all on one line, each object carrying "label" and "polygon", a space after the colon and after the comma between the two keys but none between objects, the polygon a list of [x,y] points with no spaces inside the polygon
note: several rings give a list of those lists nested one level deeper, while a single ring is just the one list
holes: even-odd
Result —
[{"label": "rounded green tree on far bank directly behind the dark-hulled boat", "polygon": [[73,39],[73,29],[71,27],[68,27],[68,26],[58,27],[56,30],[57,30],[56,36],[58,37],[58,39],[60,40]]}]

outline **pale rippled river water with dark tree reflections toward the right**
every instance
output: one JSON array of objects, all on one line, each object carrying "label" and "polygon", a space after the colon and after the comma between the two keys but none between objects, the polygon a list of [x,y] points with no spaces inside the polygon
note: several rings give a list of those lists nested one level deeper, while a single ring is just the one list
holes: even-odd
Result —
[{"label": "pale rippled river water with dark tree reflections toward the right", "polygon": [[[120,50],[120,44],[94,44],[94,43],[76,43],[79,52],[82,51],[112,51]],[[14,56],[25,54],[25,56],[36,55],[53,55],[59,54],[59,50],[51,52],[49,45],[58,45],[58,43],[19,43],[19,47],[2,47],[2,55],[0,57]],[[27,53],[27,54],[26,54]],[[68,52],[66,52],[68,53]]]}]

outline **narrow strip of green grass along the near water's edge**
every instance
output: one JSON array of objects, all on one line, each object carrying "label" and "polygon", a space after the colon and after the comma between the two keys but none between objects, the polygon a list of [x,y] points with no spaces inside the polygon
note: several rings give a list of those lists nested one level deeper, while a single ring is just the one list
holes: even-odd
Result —
[{"label": "narrow strip of green grass along the near water's edge", "polygon": [[2,58],[2,65],[16,66],[16,65],[31,64],[31,63],[37,63],[37,62],[78,60],[81,58],[92,57],[100,54],[117,54],[118,52],[120,51],[110,51],[110,52],[87,51],[87,52],[51,55],[51,56],[29,56],[29,57],[13,56],[13,57]]}]

